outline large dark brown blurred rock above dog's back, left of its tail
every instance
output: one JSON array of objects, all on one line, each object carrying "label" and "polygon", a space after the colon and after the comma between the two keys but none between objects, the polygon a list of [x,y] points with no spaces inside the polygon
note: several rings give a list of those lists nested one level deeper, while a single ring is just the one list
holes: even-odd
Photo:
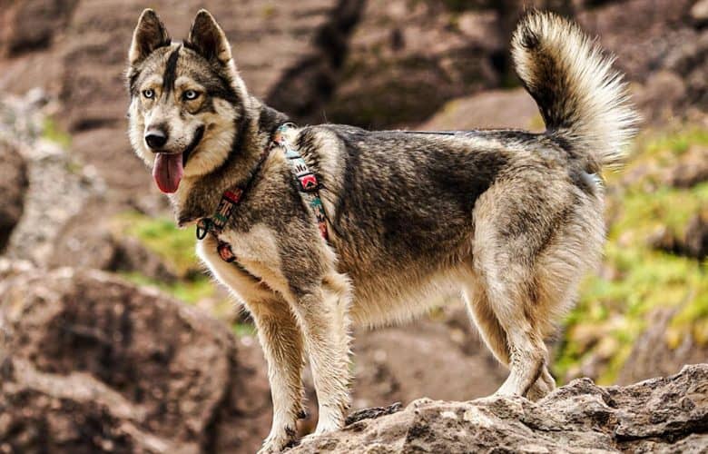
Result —
[{"label": "large dark brown blurred rock above dog's back, left of its tail", "polygon": [[[508,41],[497,32],[497,12],[454,5],[367,2],[326,120],[369,128],[415,124],[454,97],[497,86],[493,56]],[[321,112],[313,114],[312,121],[322,120]]]}]

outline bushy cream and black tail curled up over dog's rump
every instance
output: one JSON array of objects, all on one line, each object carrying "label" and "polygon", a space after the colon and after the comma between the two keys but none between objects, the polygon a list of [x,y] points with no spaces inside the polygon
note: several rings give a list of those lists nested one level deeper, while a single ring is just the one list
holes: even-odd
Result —
[{"label": "bushy cream and black tail curled up over dog's rump", "polygon": [[527,13],[512,38],[516,73],[536,100],[547,133],[599,170],[622,162],[639,116],[614,58],[574,23],[551,13]]}]

